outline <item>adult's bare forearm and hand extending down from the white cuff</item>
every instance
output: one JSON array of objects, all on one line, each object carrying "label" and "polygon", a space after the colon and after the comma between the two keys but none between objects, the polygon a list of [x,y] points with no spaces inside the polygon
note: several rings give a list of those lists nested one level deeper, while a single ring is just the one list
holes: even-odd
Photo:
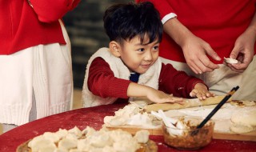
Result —
[{"label": "adult's bare forearm and hand extending down from the white cuff", "polygon": [[164,30],[179,46],[182,47],[186,63],[195,74],[210,72],[218,69],[218,65],[211,62],[206,54],[214,60],[221,60],[210,45],[201,38],[196,37],[183,26],[177,18],[172,18],[164,24]]}]

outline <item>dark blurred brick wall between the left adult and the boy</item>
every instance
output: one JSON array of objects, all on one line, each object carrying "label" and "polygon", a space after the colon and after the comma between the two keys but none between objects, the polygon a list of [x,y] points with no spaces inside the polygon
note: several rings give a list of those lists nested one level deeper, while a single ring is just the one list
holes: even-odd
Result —
[{"label": "dark blurred brick wall between the left adult and the boy", "polygon": [[82,89],[88,59],[101,47],[108,47],[109,39],[103,28],[103,14],[107,7],[129,0],[82,0],[63,18],[70,36],[74,87]]}]

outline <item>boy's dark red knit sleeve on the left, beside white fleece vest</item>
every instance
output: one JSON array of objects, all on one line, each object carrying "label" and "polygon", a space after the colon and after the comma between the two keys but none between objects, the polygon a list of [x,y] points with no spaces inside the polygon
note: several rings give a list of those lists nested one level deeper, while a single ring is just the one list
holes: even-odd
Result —
[{"label": "boy's dark red knit sleeve on the left, beside white fleece vest", "polygon": [[88,89],[94,95],[102,98],[128,98],[129,80],[114,77],[110,66],[102,58],[95,58],[90,65],[88,75]]}]

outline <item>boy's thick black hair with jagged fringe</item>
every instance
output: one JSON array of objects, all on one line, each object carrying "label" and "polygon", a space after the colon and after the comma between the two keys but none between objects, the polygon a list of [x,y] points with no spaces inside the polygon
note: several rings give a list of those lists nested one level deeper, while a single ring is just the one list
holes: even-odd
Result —
[{"label": "boy's thick black hair with jagged fringe", "polygon": [[110,41],[122,44],[123,40],[131,40],[139,36],[141,43],[145,35],[150,42],[158,38],[162,41],[162,22],[158,10],[151,2],[116,4],[110,6],[103,17],[104,28]]}]

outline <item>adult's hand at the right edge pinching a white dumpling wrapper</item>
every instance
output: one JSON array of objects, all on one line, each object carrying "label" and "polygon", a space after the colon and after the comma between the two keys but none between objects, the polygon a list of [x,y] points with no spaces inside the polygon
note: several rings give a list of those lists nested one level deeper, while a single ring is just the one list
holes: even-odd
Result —
[{"label": "adult's hand at the right edge pinching a white dumpling wrapper", "polygon": [[256,14],[250,26],[242,33],[234,43],[234,49],[230,58],[236,58],[237,64],[227,64],[231,70],[243,72],[254,58],[254,45],[256,41]]}]

